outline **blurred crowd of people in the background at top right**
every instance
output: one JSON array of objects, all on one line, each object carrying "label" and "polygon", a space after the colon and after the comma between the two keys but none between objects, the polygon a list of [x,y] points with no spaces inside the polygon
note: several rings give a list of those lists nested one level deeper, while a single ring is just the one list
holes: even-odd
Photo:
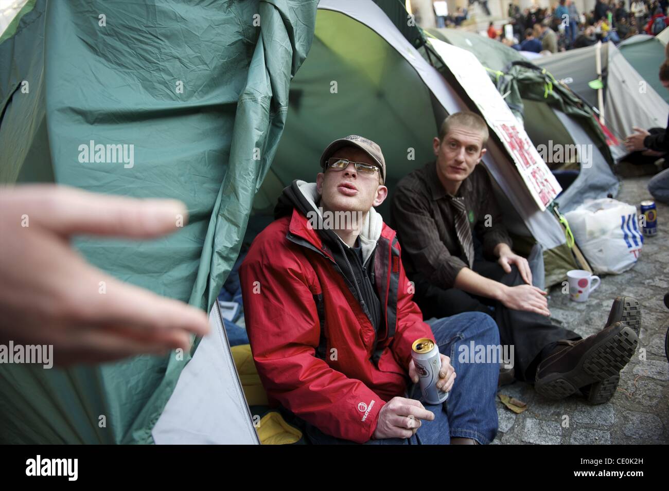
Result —
[{"label": "blurred crowd of people in the background at top right", "polygon": [[[659,34],[668,25],[668,6],[669,0],[597,0],[594,9],[579,12],[573,0],[559,0],[551,9],[533,6],[521,11],[514,0],[506,12],[508,23],[496,29],[490,22],[488,36],[535,53],[555,53],[597,41],[619,43],[635,34]],[[438,18],[438,25],[458,27],[469,15],[467,9],[458,8],[454,15]]]}]

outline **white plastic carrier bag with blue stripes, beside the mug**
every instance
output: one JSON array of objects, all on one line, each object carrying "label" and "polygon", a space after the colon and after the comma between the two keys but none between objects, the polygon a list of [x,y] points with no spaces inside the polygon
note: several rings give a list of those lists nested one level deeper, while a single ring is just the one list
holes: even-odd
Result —
[{"label": "white plastic carrier bag with blue stripes, beside the mug", "polygon": [[598,275],[627,271],[641,255],[644,235],[636,206],[602,198],[566,213],[569,228]]}]

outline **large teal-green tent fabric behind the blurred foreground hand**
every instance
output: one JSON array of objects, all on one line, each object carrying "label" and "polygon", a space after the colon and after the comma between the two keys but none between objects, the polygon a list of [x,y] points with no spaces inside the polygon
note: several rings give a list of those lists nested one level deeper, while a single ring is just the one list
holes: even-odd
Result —
[{"label": "large teal-green tent fabric behind the blurred foreground hand", "polygon": [[[209,311],[274,158],[316,4],[36,1],[0,43],[0,182],[185,201],[190,222],[171,236],[74,244],[123,281]],[[80,162],[90,142],[134,145],[132,166]],[[189,359],[2,365],[0,440],[150,443]]]}]

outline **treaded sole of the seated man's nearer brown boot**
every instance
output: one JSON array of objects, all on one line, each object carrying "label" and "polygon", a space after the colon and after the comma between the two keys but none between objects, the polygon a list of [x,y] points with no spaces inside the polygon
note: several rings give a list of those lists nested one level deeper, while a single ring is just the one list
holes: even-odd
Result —
[{"label": "treaded sole of the seated man's nearer brown boot", "polygon": [[615,377],[634,355],[638,342],[634,329],[625,325],[591,347],[573,370],[537,380],[535,390],[548,399],[563,399],[585,385]]}]

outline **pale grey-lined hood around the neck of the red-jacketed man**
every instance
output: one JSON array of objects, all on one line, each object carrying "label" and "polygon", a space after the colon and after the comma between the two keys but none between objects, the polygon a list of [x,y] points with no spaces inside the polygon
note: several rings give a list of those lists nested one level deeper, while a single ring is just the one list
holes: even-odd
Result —
[{"label": "pale grey-lined hood around the neck of the red-jacketed man", "polygon": [[[292,213],[293,209],[301,212],[305,217],[314,216],[312,213],[318,214],[322,219],[322,208],[319,208],[320,194],[316,190],[315,182],[306,182],[303,180],[294,180],[290,186],[284,188],[284,192],[279,197],[279,200],[274,208],[274,218],[281,218],[287,214]],[[321,222],[322,223],[322,222]],[[360,230],[360,244],[363,250],[363,259],[367,262],[369,256],[373,253],[376,244],[381,237],[383,230],[383,218],[373,207],[369,208],[369,212]],[[344,247],[349,247],[346,242],[341,240],[334,230],[318,229],[316,232],[323,240],[328,242],[339,240]]]}]

